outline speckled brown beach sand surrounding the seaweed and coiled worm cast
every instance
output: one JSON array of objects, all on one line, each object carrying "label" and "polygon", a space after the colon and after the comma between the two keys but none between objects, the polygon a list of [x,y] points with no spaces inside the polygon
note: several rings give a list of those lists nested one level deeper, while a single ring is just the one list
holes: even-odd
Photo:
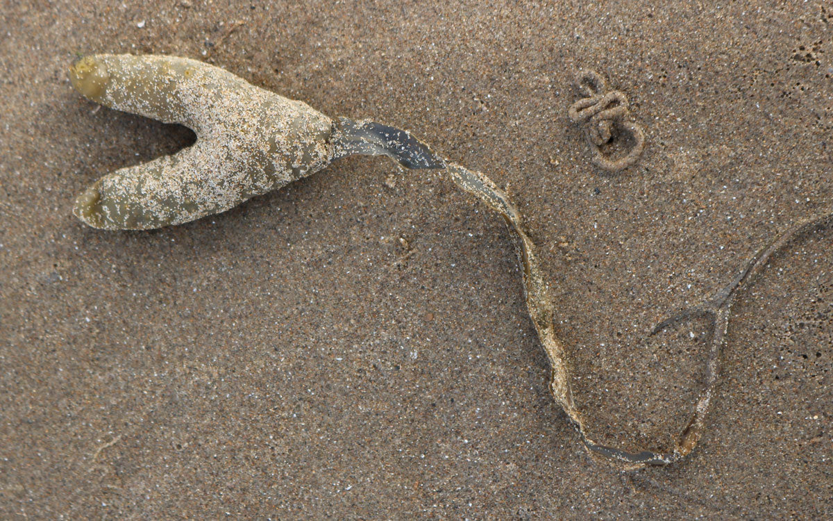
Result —
[{"label": "speckled brown beach sand surrounding the seaweed and coiled worm cast", "polygon": [[[351,157],[178,227],[72,216],[194,139],[74,92],[84,54],[407,128],[516,202],[587,436],[671,450],[705,333],[647,333],[833,208],[833,4],[656,4],[2,3],[0,517],[833,517],[831,227],[736,295],[694,451],[622,472],[551,397],[505,223],[438,173]],[[568,118],[580,69],[644,129],[631,168]]]}]

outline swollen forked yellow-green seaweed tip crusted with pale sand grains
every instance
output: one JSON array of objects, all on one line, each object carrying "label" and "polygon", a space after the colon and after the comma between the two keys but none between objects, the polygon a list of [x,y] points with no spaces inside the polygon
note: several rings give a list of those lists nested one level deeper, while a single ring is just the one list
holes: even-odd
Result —
[{"label": "swollen forked yellow-green seaweed tip crusted with pale sand grains", "polygon": [[121,168],[92,184],[73,213],[104,229],[149,229],[224,212],[332,160],[332,120],[207,63],[168,56],[97,54],[69,69],[96,103],[186,125],[197,142],[172,156]]}]

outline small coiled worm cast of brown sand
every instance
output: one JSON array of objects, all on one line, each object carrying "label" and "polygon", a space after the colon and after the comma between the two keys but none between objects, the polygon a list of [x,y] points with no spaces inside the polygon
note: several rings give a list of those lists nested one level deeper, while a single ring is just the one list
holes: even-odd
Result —
[{"label": "small coiled worm cast of brown sand", "polygon": [[[607,172],[618,172],[630,167],[645,149],[645,133],[636,123],[623,121],[629,113],[625,93],[607,89],[604,78],[592,70],[582,70],[576,75],[576,88],[586,95],[567,109],[573,123],[583,123],[585,138],[591,148],[592,162]],[[617,130],[617,133],[614,133]],[[611,143],[615,135],[633,139],[631,149],[620,158],[611,158],[601,147]]]}]

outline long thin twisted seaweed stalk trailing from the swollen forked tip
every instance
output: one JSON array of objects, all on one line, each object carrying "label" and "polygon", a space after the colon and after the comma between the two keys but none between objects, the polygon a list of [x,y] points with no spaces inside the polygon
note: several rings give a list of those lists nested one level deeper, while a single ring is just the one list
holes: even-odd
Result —
[{"label": "long thin twisted seaweed stalk trailing from the swollen forked tip", "polygon": [[526,307],[551,364],[551,393],[564,408],[572,422],[575,423],[581,439],[590,453],[623,463],[627,468],[640,468],[646,464],[674,463],[691,453],[704,430],[706,413],[711,405],[711,398],[713,398],[719,374],[721,346],[724,338],[726,338],[731,305],[738,289],[749,283],[761,271],[761,268],[766,266],[772,254],[778,252],[792,239],[814,228],[823,228],[833,221],[833,209],[829,209],[817,213],[811,218],[804,219],[785,232],[777,234],[768,244],[756,251],[731,283],[718,291],[712,298],[698,306],[681,310],[662,321],[649,333],[649,337],[654,336],[663,329],[680,323],[687,318],[707,318],[709,321],[708,329],[710,330],[707,341],[710,343],[710,347],[706,362],[706,383],[700,397],[697,399],[695,412],[686,428],[683,429],[673,452],[661,453],[651,450],[629,452],[595,443],[586,435],[585,424],[572,399],[570,373],[567,370],[564,343],[556,336],[549,287],[545,282],[546,279],[541,272],[536,257],[535,244],[532,243],[531,238],[524,230],[521,214],[508,195],[497,188],[496,184],[483,173],[451,163],[431,152],[431,148],[413,138],[411,133],[387,127],[380,123],[355,123],[347,118],[340,118],[333,133],[332,144],[336,151],[334,158],[342,158],[351,154],[384,155],[394,159],[406,168],[442,170],[459,188],[471,193],[504,218],[516,238],[516,252],[523,268]]}]

